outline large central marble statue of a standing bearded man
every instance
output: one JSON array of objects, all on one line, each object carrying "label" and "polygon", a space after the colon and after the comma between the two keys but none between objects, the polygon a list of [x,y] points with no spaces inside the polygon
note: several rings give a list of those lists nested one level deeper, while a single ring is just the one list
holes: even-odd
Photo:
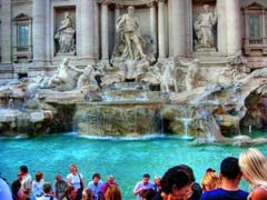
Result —
[{"label": "large central marble statue of a standing bearded man", "polygon": [[139,60],[145,57],[142,43],[145,43],[140,31],[138,18],[134,16],[135,8],[128,7],[128,13],[117,19],[116,29],[123,43],[121,58],[127,60]]}]

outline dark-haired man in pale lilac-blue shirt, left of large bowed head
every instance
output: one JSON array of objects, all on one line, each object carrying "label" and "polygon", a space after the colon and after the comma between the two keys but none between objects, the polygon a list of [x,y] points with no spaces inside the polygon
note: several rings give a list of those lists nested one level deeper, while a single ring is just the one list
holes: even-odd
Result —
[{"label": "dark-haired man in pale lilac-blue shirt, left of large bowed head", "polygon": [[154,183],[149,181],[150,176],[148,173],[145,173],[142,176],[142,180],[137,182],[135,188],[134,188],[134,194],[137,196],[138,200],[142,199],[142,192],[148,189],[154,190]]}]

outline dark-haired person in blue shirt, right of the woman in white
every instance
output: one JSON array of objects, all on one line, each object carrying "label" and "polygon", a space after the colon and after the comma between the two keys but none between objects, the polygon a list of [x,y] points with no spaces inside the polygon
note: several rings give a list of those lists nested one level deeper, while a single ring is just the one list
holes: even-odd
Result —
[{"label": "dark-haired person in blue shirt, right of the woman in white", "polygon": [[93,200],[99,200],[102,196],[102,181],[100,180],[99,173],[92,174],[92,180],[88,183],[87,189],[90,189],[92,191]]}]

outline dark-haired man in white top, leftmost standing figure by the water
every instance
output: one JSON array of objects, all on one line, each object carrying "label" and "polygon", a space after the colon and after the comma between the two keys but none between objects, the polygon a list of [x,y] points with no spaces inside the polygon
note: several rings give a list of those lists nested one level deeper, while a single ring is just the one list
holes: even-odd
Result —
[{"label": "dark-haired man in white top, leftmost standing figure by the water", "polygon": [[28,172],[27,166],[20,167],[20,173],[22,176],[21,188],[26,194],[26,200],[30,200],[31,197],[31,176]]}]

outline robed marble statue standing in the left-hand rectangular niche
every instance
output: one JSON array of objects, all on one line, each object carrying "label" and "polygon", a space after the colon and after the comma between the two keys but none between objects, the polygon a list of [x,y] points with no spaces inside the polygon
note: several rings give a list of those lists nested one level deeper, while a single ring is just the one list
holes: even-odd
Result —
[{"label": "robed marble statue standing in the left-hand rectangular niche", "polygon": [[55,39],[59,42],[60,54],[75,54],[75,28],[70,18],[70,12],[65,12],[65,18],[60,22]]}]

